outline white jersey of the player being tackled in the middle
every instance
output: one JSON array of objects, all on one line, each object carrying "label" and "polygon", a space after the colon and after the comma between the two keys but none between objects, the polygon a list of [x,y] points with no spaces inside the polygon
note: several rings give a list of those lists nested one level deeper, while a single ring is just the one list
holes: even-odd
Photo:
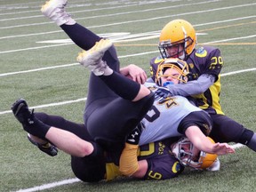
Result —
[{"label": "white jersey of the player being tackled in the middle", "polygon": [[[146,83],[144,85],[153,92],[157,89],[156,84]],[[180,121],[194,111],[202,111],[202,109],[196,108],[182,96],[170,97],[163,101],[156,99],[152,108],[142,119],[145,129],[141,132],[139,145],[181,136],[178,132]]]}]

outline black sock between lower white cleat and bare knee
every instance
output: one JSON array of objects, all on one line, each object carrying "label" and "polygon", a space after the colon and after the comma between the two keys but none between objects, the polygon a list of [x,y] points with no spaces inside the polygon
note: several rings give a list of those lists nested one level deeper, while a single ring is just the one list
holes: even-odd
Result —
[{"label": "black sock between lower white cleat and bare knee", "polygon": [[117,95],[124,100],[133,100],[140,91],[140,84],[133,82],[131,79],[113,72],[110,76],[99,76],[105,84]]}]

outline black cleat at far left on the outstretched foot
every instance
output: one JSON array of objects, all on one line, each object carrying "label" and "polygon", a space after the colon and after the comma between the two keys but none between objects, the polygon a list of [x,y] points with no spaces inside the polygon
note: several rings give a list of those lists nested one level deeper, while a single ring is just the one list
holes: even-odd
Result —
[{"label": "black cleat at far left on the outstretched foot", "polygon": [[20,99],[16,100],[12,104],[12,113],[18,119],[20,124],[28,125],[34,124],[34,113],[33,110],[28,109],[28,104],[26,100]]}]

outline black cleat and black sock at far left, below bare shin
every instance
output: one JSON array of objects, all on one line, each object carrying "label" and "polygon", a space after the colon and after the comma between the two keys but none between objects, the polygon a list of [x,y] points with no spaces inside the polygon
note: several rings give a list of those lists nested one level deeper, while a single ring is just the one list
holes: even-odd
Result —
[{"label": "black cleat and black sock at far left, below bare shin", "polygon": [[39,121],[33,113],[33,110],[28,109],[26,100],[16,100],[12,104],[12,113],[22,124],[23,129],[40,139],[45,139],[45,134],[50,129],[50,126]]}]

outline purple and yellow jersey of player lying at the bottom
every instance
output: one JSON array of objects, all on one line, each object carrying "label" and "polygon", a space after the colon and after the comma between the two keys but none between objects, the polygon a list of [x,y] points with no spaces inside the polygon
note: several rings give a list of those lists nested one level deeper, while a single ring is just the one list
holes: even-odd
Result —
[{"label": "purple and yellow jersey of player lying at the bottom", "polygon": [[[171,142],[172,140],[164,140],[140,146],[138,161],[145,159],[148,162],[148,170],[143,179],[171,179],[184,170],[178,159],[172,155],[170,150]],[[115,154],[108,154],[107,156],[108,163],[106,164],[105,179],[113,180],[122,175],[118,167],[119,158]]]}]

